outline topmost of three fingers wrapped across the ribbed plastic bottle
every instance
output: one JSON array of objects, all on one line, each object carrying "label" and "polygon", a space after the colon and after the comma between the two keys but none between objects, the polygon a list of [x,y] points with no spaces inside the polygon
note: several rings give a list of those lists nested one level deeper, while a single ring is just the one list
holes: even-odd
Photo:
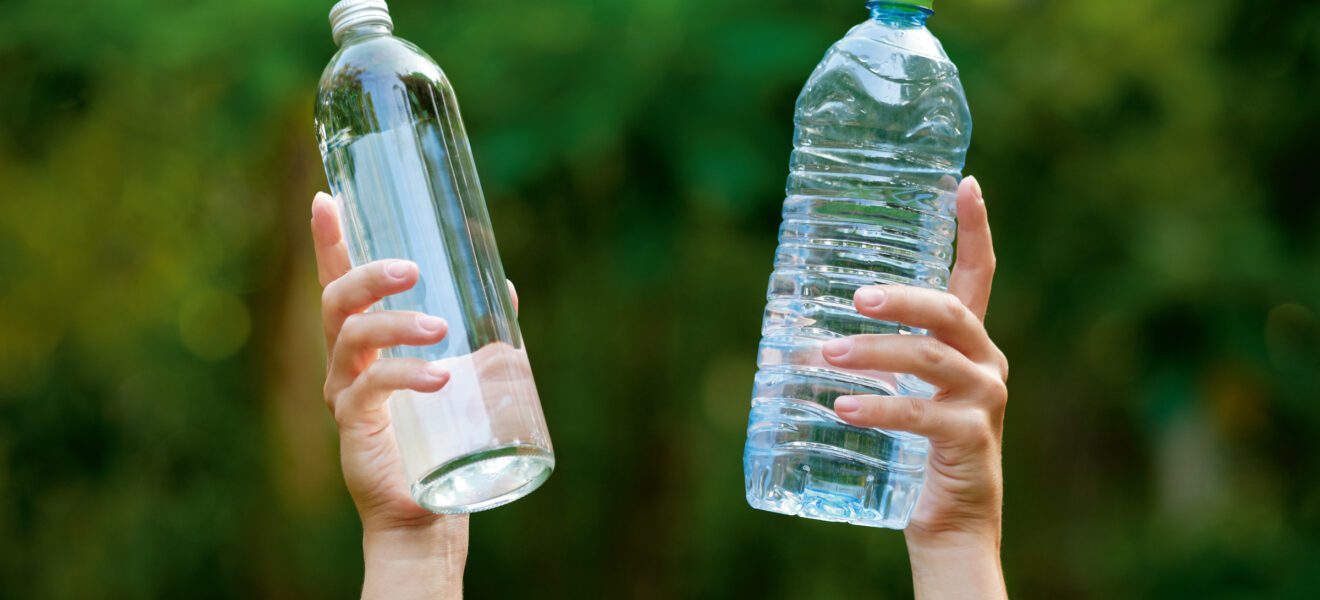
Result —
[{"label": "topmost of three fingers wrapped across the ribbed plastic bottle", "polygon": [[906,285],[873,285],[853,295],[857,311],[873,319],[892,320],[927,330],[982,364],[997,364],[999,349],[990,342],[981,319],[953,294]]}]

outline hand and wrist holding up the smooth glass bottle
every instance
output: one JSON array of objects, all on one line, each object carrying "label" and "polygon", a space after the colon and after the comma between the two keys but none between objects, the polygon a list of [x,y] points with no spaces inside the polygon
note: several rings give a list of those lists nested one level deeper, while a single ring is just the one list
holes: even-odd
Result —
[{"label": "hand and wrist holding up the smooth glass bottle", "polygon": [[[417,265],[381,260],[352,268],[335,200],[312,202],[312,239],[323,293],[321,316],[329,360],[325,401],[339,429],[339,460],[363,529],[363,597],[457,597],[467,558],[467,516],[434,514],[408,491],[385,400],[399,389],[437,392],[449,373],[421,359],[380,359],[393,345],[445,338],[444,319],[407,311],[367,311],[412,289]],[[510,284],[513,306],[517,294]]]}]

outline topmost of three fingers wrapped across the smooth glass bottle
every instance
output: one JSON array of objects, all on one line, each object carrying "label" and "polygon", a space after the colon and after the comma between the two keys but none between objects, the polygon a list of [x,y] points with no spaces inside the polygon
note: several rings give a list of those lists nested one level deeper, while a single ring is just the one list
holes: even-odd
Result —
[{"label": "topmost of three fingers wrapped across the smooth glass bottle", "polygon": [[350,315],[363,313],[389,294],[417,284],[417,264],[405,260],[380,260],[354,268],[330,282],[321,293],[321,324],[326,347],[334,348],[339,328]]}]

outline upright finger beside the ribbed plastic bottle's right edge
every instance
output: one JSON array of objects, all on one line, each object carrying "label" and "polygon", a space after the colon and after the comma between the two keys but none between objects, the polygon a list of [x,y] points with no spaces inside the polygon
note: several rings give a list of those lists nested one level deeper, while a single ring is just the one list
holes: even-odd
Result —
[{"label": "upright finger beside the ribbed plastic bottle's right edge", "polygon": [[985,320],[994,280],[994,241],[985,196],[975,177],[958,186],[958,260],[949,276],[949,293],[957,295],[978,319]]}]

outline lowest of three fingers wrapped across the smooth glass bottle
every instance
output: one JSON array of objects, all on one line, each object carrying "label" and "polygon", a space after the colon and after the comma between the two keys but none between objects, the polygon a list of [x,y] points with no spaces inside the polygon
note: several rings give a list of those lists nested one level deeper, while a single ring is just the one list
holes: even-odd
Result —
[{"label": "lowest of three fingers wrapped across the smooth glass bottle", "polygon": [[378,411],[391,392],[438,392],[449,382],[449,371],[422,359],[380,359],[363,371],[342,392],[327,392],[330,411],[339,427],[362,425]]}]

